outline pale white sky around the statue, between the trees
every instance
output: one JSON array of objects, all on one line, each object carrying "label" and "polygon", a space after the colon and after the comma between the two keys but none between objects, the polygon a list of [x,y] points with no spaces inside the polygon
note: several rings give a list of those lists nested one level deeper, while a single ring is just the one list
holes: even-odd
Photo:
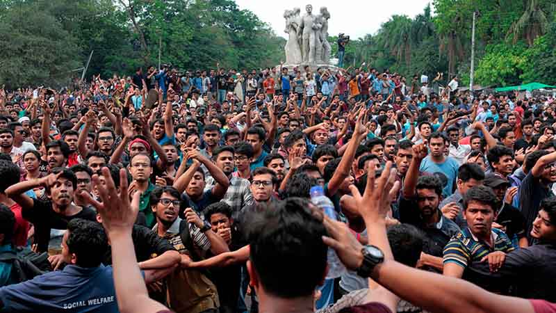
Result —
[{"label": "pale white sky around the statue, between the trees", "polygon": [[251,10],[261,21],[270,24],[277,35],[284,38],[284,10],[298,7],[304,15],[305,6],[312,4],[313,14],[318,14],[320,7],[326,6],[330,13],[329,35],[345,33],[352,39],[363,38],[367,33],[376,33],[380,24],[388,21],[392,15],[413,18],[422,13],[427,3],[431,2],[432,0],[236,0],[241,9]]}]

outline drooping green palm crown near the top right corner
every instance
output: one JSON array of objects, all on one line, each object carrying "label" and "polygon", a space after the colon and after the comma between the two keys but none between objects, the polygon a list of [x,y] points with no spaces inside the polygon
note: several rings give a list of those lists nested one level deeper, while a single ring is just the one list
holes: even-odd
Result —
[{"label": "drooping green palm crown near the top right corner", "polygon": [[510,26],[508,36],[512,36],[514,43],[523,38],[528,45],[548,30],[548,17],[539,5],[538,0],[528,0],[523,15]]}]

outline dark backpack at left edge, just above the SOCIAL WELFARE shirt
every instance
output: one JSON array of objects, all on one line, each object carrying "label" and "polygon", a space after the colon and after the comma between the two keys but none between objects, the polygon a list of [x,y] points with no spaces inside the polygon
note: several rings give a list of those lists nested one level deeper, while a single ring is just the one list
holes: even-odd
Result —
[{"label": "dark backpack at left edge, just above the SOCIAL WELFARE shirt", "polygon": [[1,252],[0,262],[12,264],[11,281],[15,283],[52,271],[47,252],[37,253],[24,247]]}]

